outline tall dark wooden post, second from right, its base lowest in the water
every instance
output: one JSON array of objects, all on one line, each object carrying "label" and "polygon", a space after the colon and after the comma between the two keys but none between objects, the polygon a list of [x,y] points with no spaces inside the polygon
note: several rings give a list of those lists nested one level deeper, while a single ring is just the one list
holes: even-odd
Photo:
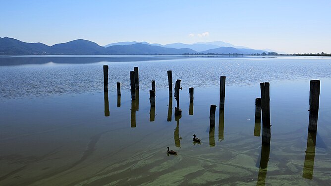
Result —
[{"label": "tall dark wooden post, second from right, its base lowest in the water", "polygon": [[269,82],[260,83],[262,105],[262,144],[270,144],[270,90]]}]

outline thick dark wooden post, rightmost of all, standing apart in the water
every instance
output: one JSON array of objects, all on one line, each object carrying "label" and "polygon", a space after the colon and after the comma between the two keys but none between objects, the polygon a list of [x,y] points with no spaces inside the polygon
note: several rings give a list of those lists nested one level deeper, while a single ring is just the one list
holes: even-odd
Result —
[{"label": "thick dark wooden post, rightmost of all, standing apart in the water", "polygon": [[310,81],[308,131],[317,131],[318,110],[320,104],[320,84],[320,80]]}]

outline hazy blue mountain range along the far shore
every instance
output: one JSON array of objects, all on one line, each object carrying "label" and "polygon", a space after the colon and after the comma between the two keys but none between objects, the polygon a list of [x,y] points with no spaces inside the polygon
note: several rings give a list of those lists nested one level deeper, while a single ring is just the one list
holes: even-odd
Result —
[{"label": "hazy blue mountain range along the far shore", "polygon": [[214,54],[262,54],[266,50],[254,50],[236,47],[217,41],[207,43],[167,45],[149,44],[147,42],[119,42],[104,47],[92,41],[78,39],[66,43],[48,46],[43,43],[26,43],[13,38],[0,38],[0,55],[182,55],[197,53]]}]

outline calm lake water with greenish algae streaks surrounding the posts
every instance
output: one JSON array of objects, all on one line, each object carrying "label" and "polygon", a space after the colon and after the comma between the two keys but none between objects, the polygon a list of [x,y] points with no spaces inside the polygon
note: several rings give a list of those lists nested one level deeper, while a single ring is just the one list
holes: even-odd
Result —
[{"label": "calm lake water with greenish algae streaks surrounding the posts", "polygon": [[[131,101],[135,66],[140,89]],[[174,117],[167,70],[172,89],[182,80],[181,117]],[[315,135],[308,132],[313,79],[321,80]],[[255,122],[261,82],[270,82],[270,146],[262,145],[262,123]],[[328,57],[2,56],[0,185],[329,185],[330,95]]]}]

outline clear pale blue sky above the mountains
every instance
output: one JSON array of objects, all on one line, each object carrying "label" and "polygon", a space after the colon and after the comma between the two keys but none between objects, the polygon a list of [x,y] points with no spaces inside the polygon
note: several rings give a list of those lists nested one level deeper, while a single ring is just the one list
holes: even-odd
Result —
[{"label": "clear pale blue sky above the mountains", "polygon": [[0,37],[331,53],[331,0],[0,0]]}]

